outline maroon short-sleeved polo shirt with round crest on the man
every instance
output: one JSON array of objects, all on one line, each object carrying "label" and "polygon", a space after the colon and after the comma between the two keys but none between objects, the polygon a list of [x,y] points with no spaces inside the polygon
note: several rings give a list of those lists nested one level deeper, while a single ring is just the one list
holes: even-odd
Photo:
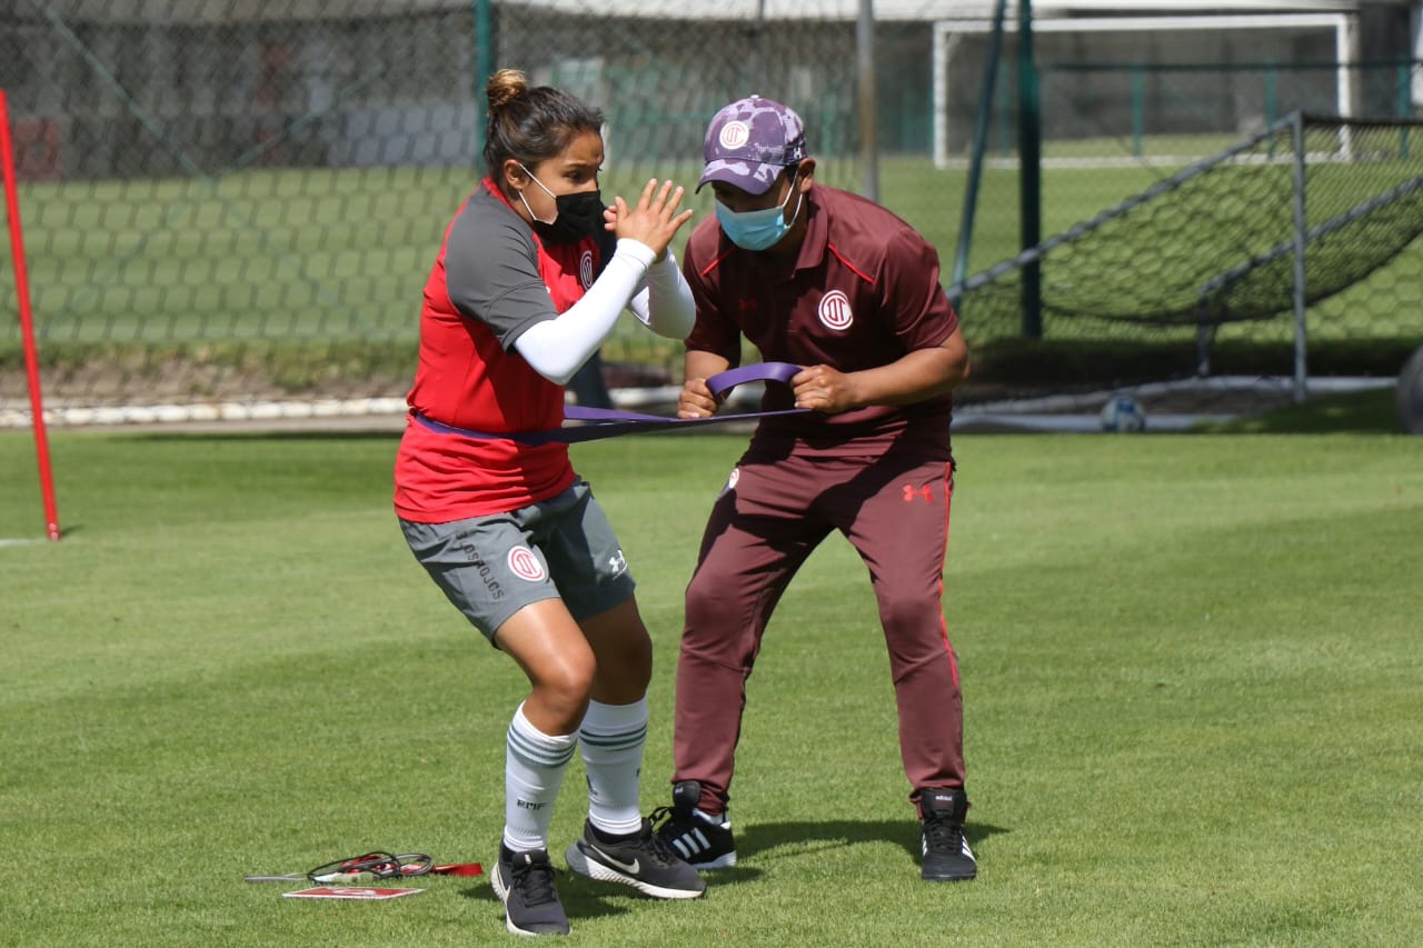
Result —
[{"label": "maroon short-sleeved polo shirt with round crest on the man", "polygon": [[[737,366],[744,337],[766,362],[859,372],[933,349],[953,333],[959,319],[939,286],[939,255],[918,231],[847,191],[815,185],[805,202],[805,239],[794,260],[743,251],[716,218],[697,225],[683,260],[697,305],[689,350]],[[911,406],[763,418],[753,443],[857,455],[912,447],[948,458],[952,406],[943,394]],[[787,386],[767,386],[764,410],[790,407]]]}]

